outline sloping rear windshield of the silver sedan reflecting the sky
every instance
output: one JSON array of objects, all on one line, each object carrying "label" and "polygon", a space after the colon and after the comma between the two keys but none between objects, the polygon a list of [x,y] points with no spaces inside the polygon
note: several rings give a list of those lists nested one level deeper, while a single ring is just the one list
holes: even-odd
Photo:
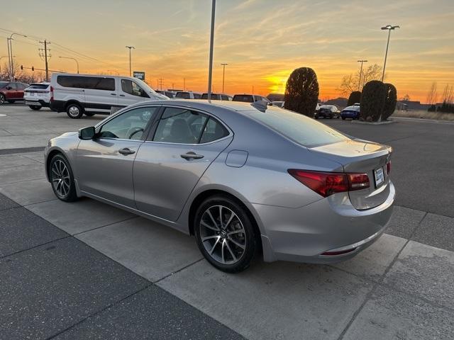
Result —
[{"label": "sloping rear windshield of the silver sedan reflecting the sky", "polygon": [[265,112],[255,110],[245,113],[304,147],[316,147],[348,140],[348,137],[328,125],[292,111],[268,109]]}]

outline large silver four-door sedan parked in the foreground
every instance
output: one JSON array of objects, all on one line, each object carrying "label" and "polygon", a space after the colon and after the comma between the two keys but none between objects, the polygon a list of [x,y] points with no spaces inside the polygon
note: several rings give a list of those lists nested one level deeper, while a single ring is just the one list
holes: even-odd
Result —
[{"label": "large silver four-door sedan parked in the foreground", "polygon": [[45,172],[60,200],[88,196],[192,234],[207,261],[237,272],[259,249],[333,263],[370,246],[392,214],[391,154],[274,106],[148,101],[52,138]]}]

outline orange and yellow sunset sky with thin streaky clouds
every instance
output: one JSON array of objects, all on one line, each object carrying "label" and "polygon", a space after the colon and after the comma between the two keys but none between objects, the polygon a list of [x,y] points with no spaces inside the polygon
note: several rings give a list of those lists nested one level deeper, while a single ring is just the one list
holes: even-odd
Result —
[{"label": "orange and yellow sunset sky with thin streaky clouds", "polygon": [[[49,68],[81,73],[128,74],[145,71],[156,88],[206,91],[211,0],[166,1],[8,1],[0,14],[0,57],[14,31],[13,55],[24,66],[44,68],[38,41],[51,42]],[[454,84],[454,4],[452,0],[272,1],[218,0],[214,43],[214,91],[221,91],[226,62],[226,93],[283,92],[290,72],[311,67],[320,98],[340,96],[344,74],[356,72],[358,59],[382,66],[387,24],[391,35],[387,79],[398,96],[425,101],[433,81],[438,92]],[[63,47],[66,47],[63,48]],[[82,53],[96,60],[74,54]],[[4,67],[6,58],[1,60]]]}]

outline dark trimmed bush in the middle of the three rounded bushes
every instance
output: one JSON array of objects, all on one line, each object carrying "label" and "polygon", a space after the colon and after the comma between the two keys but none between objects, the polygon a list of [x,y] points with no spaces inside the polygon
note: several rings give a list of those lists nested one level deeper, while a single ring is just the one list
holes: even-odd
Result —
[{"label": "dark trimmed bush in the middle of the three rounded bushes", "polygon": [[386,89],[382,81],[371,80],[362,88],[360,119],[378,122],[383,113]]}]

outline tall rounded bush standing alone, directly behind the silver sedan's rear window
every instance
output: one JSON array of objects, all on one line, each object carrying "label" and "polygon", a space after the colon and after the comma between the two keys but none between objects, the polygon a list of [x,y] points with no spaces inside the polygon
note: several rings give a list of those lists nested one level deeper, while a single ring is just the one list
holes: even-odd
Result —
[{"label": "tall rounded bush standing alone, directly behind the silver sedan's rear window", "polygon": [[285,86],[284,108],[313,117],[318,100],[319,81],[314,70],[294,69]]}]

